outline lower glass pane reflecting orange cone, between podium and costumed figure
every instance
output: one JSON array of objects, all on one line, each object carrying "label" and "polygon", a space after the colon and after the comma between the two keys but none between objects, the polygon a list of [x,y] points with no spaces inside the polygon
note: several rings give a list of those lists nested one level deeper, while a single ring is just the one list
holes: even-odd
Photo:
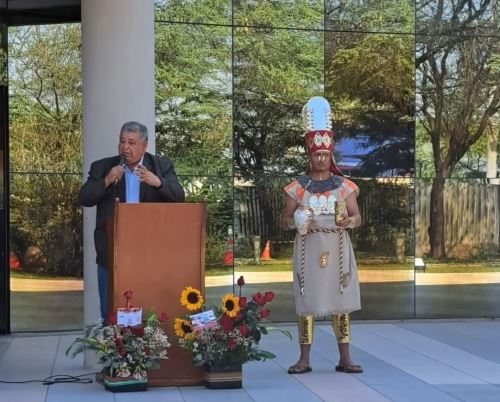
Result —
[{"label": "lower glass pane reflecting orange cone, between podium and costumed figure", "polygon": [[271,319],[296,319],[292,285],[295,231],[283,230],[284,187],[293,178],[241,177],[234,184],[235,272],[245,279],[242,294],[273,291]]}]

